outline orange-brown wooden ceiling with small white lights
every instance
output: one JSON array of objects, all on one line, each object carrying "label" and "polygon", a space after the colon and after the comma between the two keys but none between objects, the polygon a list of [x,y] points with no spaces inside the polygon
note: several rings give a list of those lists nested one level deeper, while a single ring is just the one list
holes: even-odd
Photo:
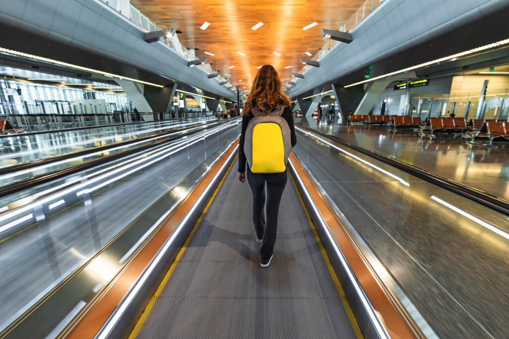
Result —
[{"label": "orange-brown wooden ceiling with small white lights", "polygon": [[[212,69],[247,92],[258,66],[273,65],[281,79],[302,68],[327,42],[321,30],[340,29],[365,0],[131,0],[163,29],[176,29],[180,42],[198,48],[196,56],[208,59]],[[371,1],[369,1],[371,5]],[[366,5],[367,6],[367,5]],[[210,26],[201,30],[207,21]],[[256,31],[251,27],[263,22]],[[313,22],[318,25],[304,31]],[[348,25],[347,25],[348,27]],[[207,55],[204,52],[214,54]],[[245,56],[237,54],[241,52]],[[273,54],[278,52],[281,56]],[[235,66],[230,69],[229,67]],[[285,68],[291,66],[291,68]],[[231,76],[225,75],[230,74]],[[251,74],[246,75],[246,74]],[[242,81],[241,81],[242,80]],[[246,86],[246,88],[243,88]]]}]

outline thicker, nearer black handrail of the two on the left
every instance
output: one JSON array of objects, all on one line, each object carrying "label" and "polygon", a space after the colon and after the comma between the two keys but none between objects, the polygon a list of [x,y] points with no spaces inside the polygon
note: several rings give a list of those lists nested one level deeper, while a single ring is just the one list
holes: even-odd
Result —
[{"label": "thicker, nearer black handrail of the two on the left", "polygon": [[122,151],[122,152],[115,153],[115,154],[105,155],[105,156],[100,157],[98,159],[84,161],[84,162],[81,162],[79,164],[75,164],[75,165],[71,165],[71,166],[68,166],[68,167],[60,168],[59,170],[55,170],[55,171],[52,171],[52,172],[47,172],[47,173],[44,173],[44,174],[41,174],[41,175],[38,175],[38,176],[35,176],[35,177],[31,177],[31,178],[26,178],[26,179],[22,179],[22,180],[19,180],[19,181],[15,181],[15,182],[12,182],[12,183],[0,186],[0,197],[4,197],[6,195],[9,195],[9,194],[21,191],[23,189],[35,187],[36,185],[40,185],[40,184],[43,184],[43,183],[46,183],[46,182],[49,182],[49,181],[52,181],[52,180],[63,178],[65,176],[68,176],[68,175],[71,175],[71,174],[75,174],[75,173],[78,173],[78,172],[81,172],[81,171],[84,171],[84,170],[88,170],[89,168],[92,168],[92,167],[104,164],[106,162],[109,162],[109,161],[112,161],[112,160],[116,160],[116,159],[119,159],[121,157],[125,157],[127,155],[133,154],[133,153],[137,153],[137,152],[149,149],[149,148],[153,148],[153,147],[159,146],[161,144],[165,144],[165,143],[171,142],[171,141],[173,141],[175,139],[178,139],[178,138],[181,138],[183,136],[191,135],[191,134],[194,134],[194,133],[197,133],[197,132],[201,132],[201,131],[203,131],[205,129],[208,129],[208,128],[211,128],[211,127],[215,127],[215,126],[218,126],[218,125],[229,123],[231,120],[232,119],[223,120],[221,122],[218,122],[218,123],[215,123],[215,124],[211,124],[211,125],[208,125],[206,127],[202,127],[200,129],[196,129],[196,130],[189,131],[187,133],[183,133],[183,134],[179,134],[179,135],[175,135],[175,136],[170,136],[170,137],[164,138],[162,140],[158,140],[158,141],[150,143],[150,144],[134,147],[134,148]]}]

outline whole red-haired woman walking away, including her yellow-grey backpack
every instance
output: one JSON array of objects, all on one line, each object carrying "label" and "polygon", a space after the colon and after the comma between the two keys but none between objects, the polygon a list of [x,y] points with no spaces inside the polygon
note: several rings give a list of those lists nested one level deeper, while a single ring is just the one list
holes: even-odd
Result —
[{"label": "whole red-haired woman walking away, including her yellow-grey backpack", "polygon": [[273,256],[279,203],[288,180],[286,163],[295,144],[290,99],[283,93],[274,67],[265,65],[254,77],[251,94],[244,104],[239,144],[239,181],[245,182],[247,162],[254,229],[257,241],[262,243],[262,267],[269,266]]}]

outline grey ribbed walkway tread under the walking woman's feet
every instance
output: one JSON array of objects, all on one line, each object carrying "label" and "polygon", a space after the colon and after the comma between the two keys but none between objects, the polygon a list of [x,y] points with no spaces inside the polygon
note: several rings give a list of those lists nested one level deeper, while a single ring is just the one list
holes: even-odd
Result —
[{"label": "grey ribbed walkway tread under the walking woman's feet", "polygon": [[362,337],[291,179],[267,268],[251,204],[230,170],[131,337]]}]

